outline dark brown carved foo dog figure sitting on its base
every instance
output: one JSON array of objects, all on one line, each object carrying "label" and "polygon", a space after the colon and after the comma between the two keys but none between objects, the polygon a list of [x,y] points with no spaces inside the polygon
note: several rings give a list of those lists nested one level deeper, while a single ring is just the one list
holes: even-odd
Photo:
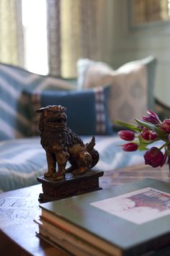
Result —
[{"label": "dark brown carved foo dog figure sitting on its base", "polygon": [[[37,110],[37,113],[41,113],[41,145],[48,162],[48,172],[44,176],[53,177],[53,180],[64,179],[66,172],[83,174],[99,161],[99,153],[94,149],[95,138],[92,137],[91,142],[84,145],[81,138],[67,127],[65,111],[65,107],[55,105]],[[66,169],[67,162],[71,166]]]}]

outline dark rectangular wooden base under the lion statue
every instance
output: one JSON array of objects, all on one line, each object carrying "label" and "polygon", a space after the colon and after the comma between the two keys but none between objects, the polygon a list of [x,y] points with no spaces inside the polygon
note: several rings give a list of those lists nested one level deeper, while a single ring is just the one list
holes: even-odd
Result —
[{"label": "dark rectangular wooden base under the lion statue", "polygon": [[43,192],[39,195],[39,201],[49,202],[102,189],[99,187],[99,176],[103,176],[103,174],[103,171],[93,170],[76,176],[68,173],[65,179],[56,182],[52,178],[38,176],[37,181],[42,183]]}]

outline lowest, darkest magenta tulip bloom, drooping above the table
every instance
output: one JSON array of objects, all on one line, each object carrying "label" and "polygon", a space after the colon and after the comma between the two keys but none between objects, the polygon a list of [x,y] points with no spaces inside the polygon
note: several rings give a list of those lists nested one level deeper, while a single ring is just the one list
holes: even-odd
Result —
[{"label": "lowest, darkest magenta tulip bloom, drooping above the table", "polygon": [[164,155],[156,147],[152,147],[151,149],[147,150],[144,154],[145,163],[152,167],[162,166],[164,162]]}]

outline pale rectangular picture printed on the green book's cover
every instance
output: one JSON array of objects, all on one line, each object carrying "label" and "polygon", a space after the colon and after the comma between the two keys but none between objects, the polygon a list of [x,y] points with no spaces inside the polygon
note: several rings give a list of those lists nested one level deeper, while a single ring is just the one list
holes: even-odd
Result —
[{"label": "pale rectangular picture printed on the green book's cover", "polygon": [[170,214],[170,194],[147,187],[91,202],[91,205],[127,221],[142,224]]}]

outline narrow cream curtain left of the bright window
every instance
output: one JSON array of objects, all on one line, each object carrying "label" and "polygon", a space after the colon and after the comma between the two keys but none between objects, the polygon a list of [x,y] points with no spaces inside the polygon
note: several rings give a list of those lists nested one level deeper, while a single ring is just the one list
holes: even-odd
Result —
[{"label": "narrow cream curtain left of the bright window", "polygon": [[22,65],[21,0],[0,0],[0,61]]}]

